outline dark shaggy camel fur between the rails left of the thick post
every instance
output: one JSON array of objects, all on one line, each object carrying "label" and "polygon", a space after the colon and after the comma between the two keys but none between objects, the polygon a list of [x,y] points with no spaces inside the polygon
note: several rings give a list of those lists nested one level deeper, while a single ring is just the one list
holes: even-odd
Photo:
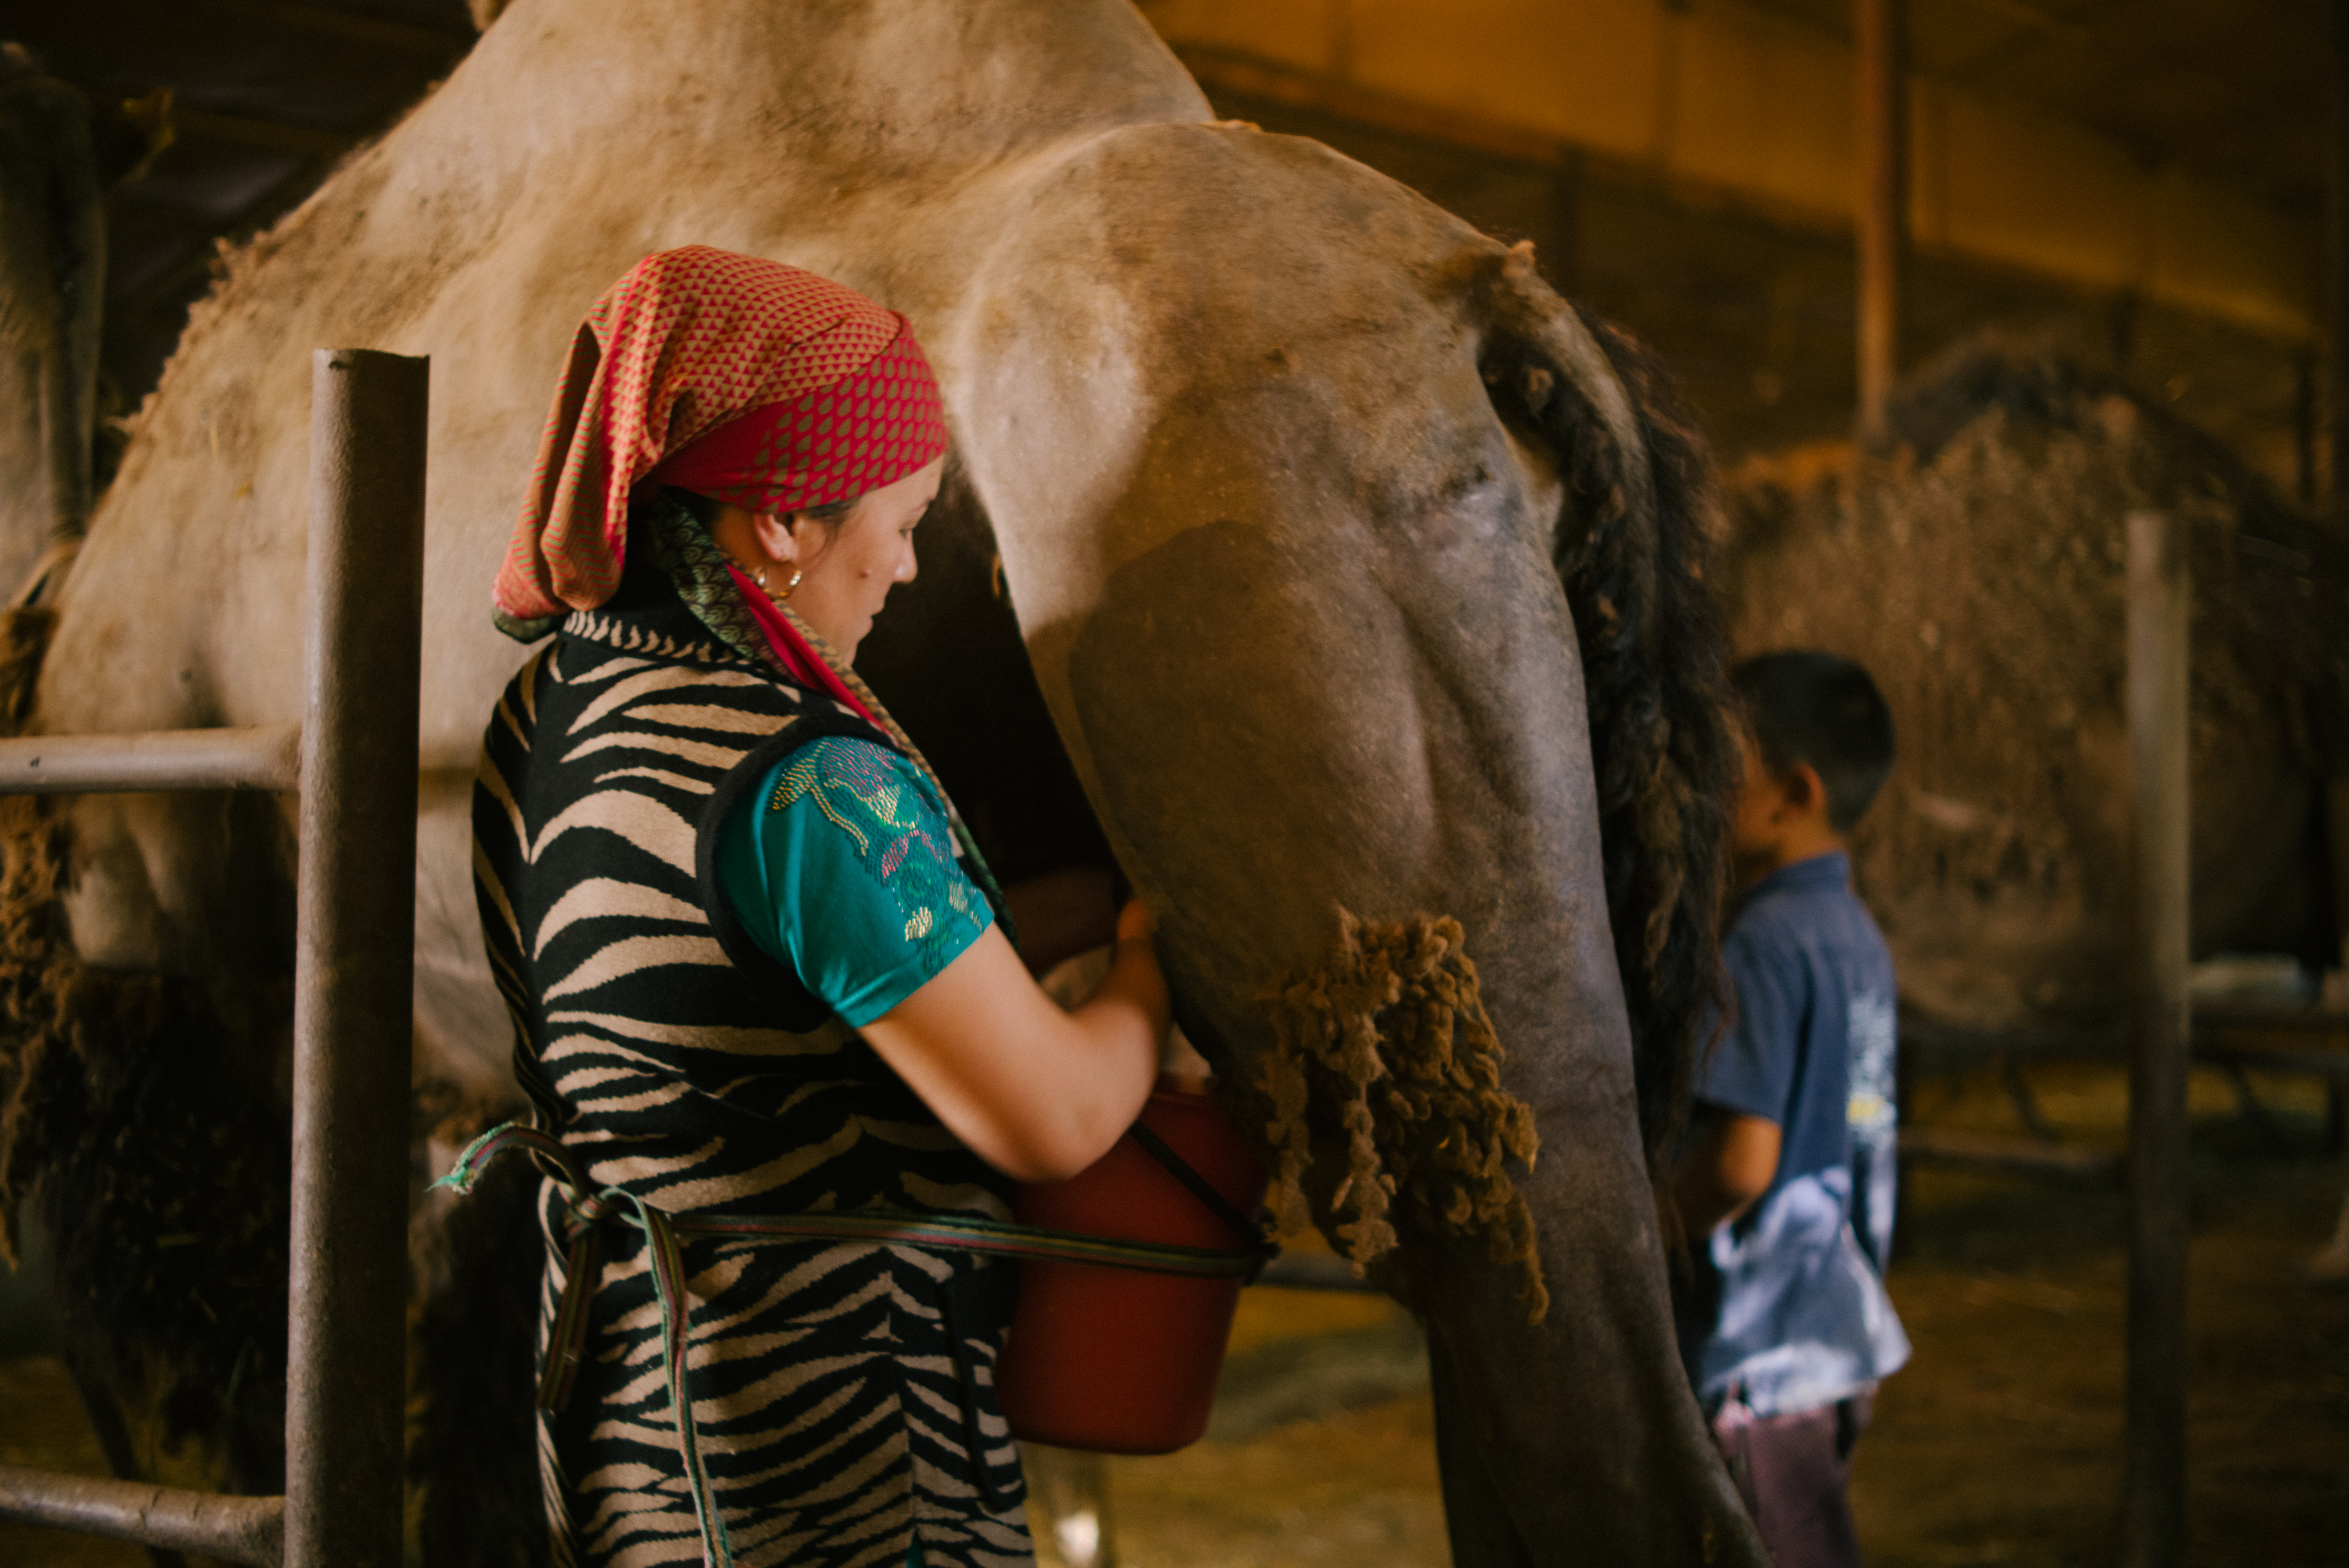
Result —
[{"label": "dark shaggy camel fur between the rails left of the thick post", "polygon": [[63,876],[61,815],[0,800],[0,1251],[38,1202],[66,1359],[150,1479],[282,1491],[282,1108],[221,998],[73,955]]}]

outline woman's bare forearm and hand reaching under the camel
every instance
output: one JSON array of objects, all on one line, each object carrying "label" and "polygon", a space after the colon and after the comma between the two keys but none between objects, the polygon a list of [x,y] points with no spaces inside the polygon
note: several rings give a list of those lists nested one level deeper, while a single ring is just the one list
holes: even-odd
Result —
[{"label": "woman's bare forearm and hand reaching under the camel", "polygon": [[862,1035],[980,1160],[1066,1181],[1135,1124],[1156,1082],[1167,984],[1153,930],[1139,901],[1118,911],[1109,976],[1062,1012],[991,925]]}]

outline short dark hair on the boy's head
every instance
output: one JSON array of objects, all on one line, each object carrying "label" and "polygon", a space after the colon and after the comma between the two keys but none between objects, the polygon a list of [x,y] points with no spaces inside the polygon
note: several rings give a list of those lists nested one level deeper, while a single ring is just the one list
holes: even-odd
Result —
[{"label": "short dark hair on the boy's head", "polygon": [[1832,653],[1762,653],[1729,671],[1771,772],[1797,763],[1828,786],[1828,826],[1849,833],[1893,770],[1893,711],[1867,671]]}]

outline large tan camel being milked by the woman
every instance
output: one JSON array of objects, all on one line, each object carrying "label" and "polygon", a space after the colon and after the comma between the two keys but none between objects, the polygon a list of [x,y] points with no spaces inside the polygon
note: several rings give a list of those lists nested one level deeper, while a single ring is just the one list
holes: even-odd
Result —
[{"label": "large tan camel being milked by the woman", "polygon": [[[298,716],[308,350],[432,354],[416,1035],[439,1094],[507,1096],[465,829],[519,662],[486,584],[580,312],[684,242],[916,324],[958,472],[874,683],[1010,876],[1106,845],[1160,911],[1290,1218],[1426,1319],[1456,1561],[1764,1561],[1677,1361],[1649,1171],[1736,768],[1701,441],[1527,251],[1214,122],[1123,0],[519,0],[197,307],[54,592],[31,728]],[[78,1216],[68,1286],[134,1282],[80,1322],[120,1399],[268,1488],[284,803],[7,829],[0,1169]],[[1442,1124],[1367,1094],[1454,1047]],[[171,1181],[120,1176],[148,1153]],[[519,1293],[536,1256],[493,1214],[428,1246],[425,1322],[496,1319],[451,1305],[484,1256]],[[451,1383],[425,1425],[484,1427]],[[526,1486],[526,1446],[505,1462]]]}]

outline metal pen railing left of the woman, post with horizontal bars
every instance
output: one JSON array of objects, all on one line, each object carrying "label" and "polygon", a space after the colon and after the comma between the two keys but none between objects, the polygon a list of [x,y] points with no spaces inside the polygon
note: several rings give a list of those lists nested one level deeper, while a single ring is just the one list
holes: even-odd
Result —
[{"label": "metal pen railing left of the woman, post with horizontal bars", "polygon": [[301,793],[287,1495],[0,1467],[0,1516],[256,1568],[402,1561],[428,359],[317,350],[298,725],[0,742],[0,791]]}]

